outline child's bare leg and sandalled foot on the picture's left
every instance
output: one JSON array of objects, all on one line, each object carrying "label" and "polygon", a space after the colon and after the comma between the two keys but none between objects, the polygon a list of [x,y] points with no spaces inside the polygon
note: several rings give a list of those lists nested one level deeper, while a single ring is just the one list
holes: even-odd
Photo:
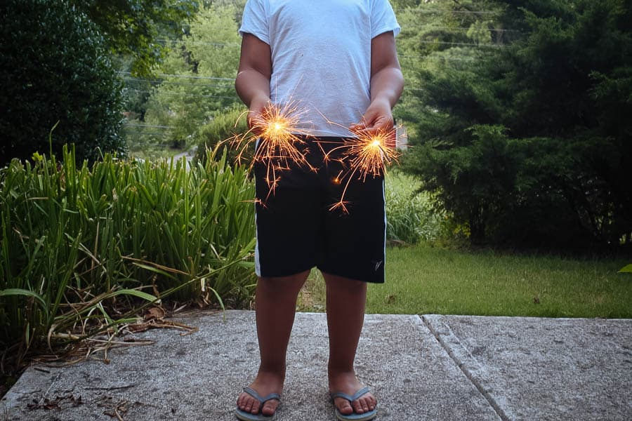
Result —
[{"label": "child's bare leg and sandalled foot on the picture's left", "polygon": [[[285,356],[289,342],[296,298],[310,272],[281,278],[259,278],[256,290],[257,337],[261,363],[250,387],[260,396],[281,393],[285,380]],[[268,401],[261,413],[272,415],[279,401]],[[237,407],[249,413],[259,413],[259,401],[246,393],[239,395]]]}]

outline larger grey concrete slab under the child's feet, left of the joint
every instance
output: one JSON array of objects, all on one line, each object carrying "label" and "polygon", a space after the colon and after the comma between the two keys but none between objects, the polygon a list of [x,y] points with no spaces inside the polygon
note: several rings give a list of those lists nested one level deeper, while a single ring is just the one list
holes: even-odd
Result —
[{"label": "larger grey concrete slab under the child's feet, left of the joint", "polygon": [[[30,367],[2,399],[0,417],[235,420],[237,394],[257,368],[254,313],[226,312],[225,321],[220,314],[192,314],[178,321],[199,331],[138,333],[135,338],[154,345],[113,349],[109,364]],[[278,420],[335,419],[327,394],[326,324],[324,314],[297,314]],[[356,366],[380,400],[378,420],[500,419],[419,316],[367,316]],[[41,408],[46,399],[57,407]]]}]

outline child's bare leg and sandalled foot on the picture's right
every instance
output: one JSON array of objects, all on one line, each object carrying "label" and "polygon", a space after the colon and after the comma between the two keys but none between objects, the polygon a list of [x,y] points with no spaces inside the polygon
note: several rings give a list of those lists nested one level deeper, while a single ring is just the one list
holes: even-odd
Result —
[{"label": "child's bare leg and sandalled foot on the picture's right", "polygon": [[[323,274],[327,283],[327,326],[329,328],[329,392],[353,395],[362,385],[355,377],[353,361],[364,323],[364,304],[367,300],[367,283]],[[365,413],[377,405],[370,393],[360,396],[352,405],[336,398],[336,408],[344,414]]]}]

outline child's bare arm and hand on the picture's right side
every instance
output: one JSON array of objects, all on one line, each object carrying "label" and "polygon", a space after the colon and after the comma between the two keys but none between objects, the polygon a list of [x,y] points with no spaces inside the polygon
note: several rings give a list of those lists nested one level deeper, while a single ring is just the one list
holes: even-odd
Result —
[{"label": "child's bare arm and hand on the picture's right side", "polygon": [[393,128],[391,109],[402,95],[404,76],[397,60],[395,36],[384,32],[371,40],[371,104],[354,131]]}]

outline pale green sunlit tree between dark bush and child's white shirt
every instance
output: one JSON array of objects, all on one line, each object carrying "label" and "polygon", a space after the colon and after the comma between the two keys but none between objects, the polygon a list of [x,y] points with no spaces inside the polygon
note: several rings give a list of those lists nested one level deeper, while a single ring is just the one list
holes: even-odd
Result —
[{"label": "pale green sunlit tree between dark bush and child's white shirt", "polygon": [[[240,103],[234,83],[241,41],[239,13],[241,9],[230,4],[199,11],[189,34],[171,44],[138,124],[169,128],[154,136],[182,147],[216,115]],[[143,91],[141,83],[147,81],[129,80],[129,93]]]}]

